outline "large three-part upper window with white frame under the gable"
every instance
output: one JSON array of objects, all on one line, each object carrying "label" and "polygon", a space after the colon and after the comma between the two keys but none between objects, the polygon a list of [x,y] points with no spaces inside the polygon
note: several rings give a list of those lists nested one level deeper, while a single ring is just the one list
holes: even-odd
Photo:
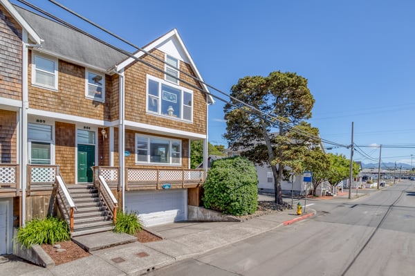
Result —
[{"label": "large three-part upper window with white frame under the gable", "polygon": [[192,122],[193,92],[147,75],[147,112]]}]

